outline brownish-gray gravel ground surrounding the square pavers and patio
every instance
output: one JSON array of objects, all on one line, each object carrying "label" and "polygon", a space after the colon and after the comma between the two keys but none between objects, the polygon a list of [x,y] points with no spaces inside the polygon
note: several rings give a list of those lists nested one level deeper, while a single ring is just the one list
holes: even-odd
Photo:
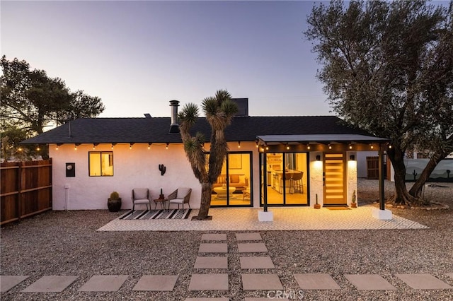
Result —
[{"label": "brownish-gray gravel ground surrounding the square pavers and patio", "polygon": [[[428,230],[263,231],[260,235],[285,290],[299,292],[294,273],[328,273],[341,290],[306,290],[303,300],[453,300],[453,290],[414,290],[397,273],[430,273],[453,286],[453,184],[427,187],[425,196],[449,205],[447,210],[392,211]],[[360,204],[377,206],[378,183],[360,179]],[[392,184],[386,183],[391,194]],[[185,300],[186,297],[265,297],[265,291],[244,291],[235,232],[224,231],[229,245],[229,292],[188,291],[192,273],[225,273],[194,269],[202,232],[97,232],[120,213],[56,211],[1,228],[1,275],[28,275],[1,300]],[[214,231],[212,231],[214,233]],[[241,254],[241,256],[244,256]],[[246,256],[246,255],[245,255]],[[244,273],[269,273],[267,270]],[[397,290],[357,290],[345,274],[376,273]],[[144,275],[179,275],[171,292],[135,292]],[[42,276],[76,275],[62,293],[21,293]],[[113,293],[77,290],[93,275],[128,275]]]}]

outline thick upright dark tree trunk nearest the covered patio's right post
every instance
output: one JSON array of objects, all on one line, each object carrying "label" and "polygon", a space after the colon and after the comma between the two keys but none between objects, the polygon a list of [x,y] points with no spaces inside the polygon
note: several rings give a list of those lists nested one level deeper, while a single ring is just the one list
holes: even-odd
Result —
[{"label": "thick upright dark tree trunk nearest the covered patio's right post", "polygon": [[415,202],[415,198],[408,193],[406,188],[406,165],[404,165],[404,152],[394,147],[387,151],[391,164],[395,171],[395,195],[390,199],[398,205],[409,205]]}]

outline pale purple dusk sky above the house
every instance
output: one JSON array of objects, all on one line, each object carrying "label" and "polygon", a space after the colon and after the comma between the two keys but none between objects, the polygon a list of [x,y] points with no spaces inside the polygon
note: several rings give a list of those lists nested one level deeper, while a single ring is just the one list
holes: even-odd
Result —
[{"label": "pale purple dusk sky above the house", "polygon": [[332,115],[306,41],[315,1],[1,1],[1,54],[98,96],[99,117],[169,117],[219,89],[252,116]]}]

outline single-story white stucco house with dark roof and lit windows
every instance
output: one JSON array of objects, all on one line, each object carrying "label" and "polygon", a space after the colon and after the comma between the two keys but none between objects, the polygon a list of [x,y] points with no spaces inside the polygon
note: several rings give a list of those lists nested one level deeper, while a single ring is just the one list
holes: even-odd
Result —
[{"label": "single-story white stucco house with dark roof and lit windows", "polygon": [[[235,101],[240,112],[225,131],[229,153],[213,207],[348,206],[357,195],[357,152],[389,143],[338,117],[251,117],[248,100]],[[199,208],[201,185],[178,133],[178,101],[170,103],[171,117],[76,119],[23,141],[49,145],[53,209],[106,209],[111,191],[120,193],[123,209],[132,208],[134,187],[154,197],[190,187],[190,206]],[[196,131],[209,140],[204,117]]]}]

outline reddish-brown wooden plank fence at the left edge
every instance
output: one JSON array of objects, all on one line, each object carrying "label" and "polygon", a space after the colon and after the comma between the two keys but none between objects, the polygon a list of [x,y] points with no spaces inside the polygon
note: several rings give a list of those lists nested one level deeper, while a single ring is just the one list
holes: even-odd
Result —
[{"label": "reddish-brown wooden plank fence at the left edge", "polygon": [[1,163],[1,223],[52,210],[52,159]]}]

